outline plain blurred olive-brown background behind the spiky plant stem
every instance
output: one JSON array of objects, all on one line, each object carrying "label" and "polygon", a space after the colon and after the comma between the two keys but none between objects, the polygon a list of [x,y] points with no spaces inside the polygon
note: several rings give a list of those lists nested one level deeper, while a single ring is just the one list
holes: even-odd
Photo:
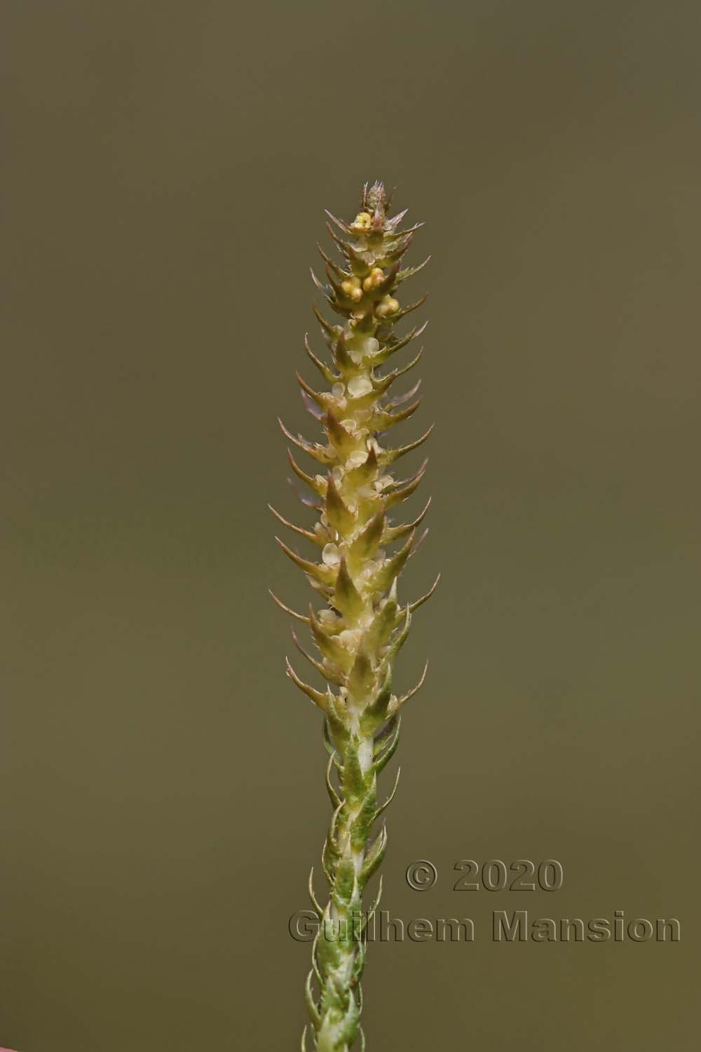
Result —
[{"label": "plain blurred olive-brown background behind the spiky plant stem", "polygon": [[[695,1048],[699,5],[0,18],[0,1045],[298,1047],[287,922],[329,808],[266,503],[294,508],[276,414],[314,433],[322,209],[378,177],[433,254],[404,596],[442,570],[400,666],[431,659],[384,906],[477,939],[372,948],[369,1049]],[[457,859],[520,857],[562,890],[452,890]],[[524,908],[676,916],[682,942],[492,944],[490,911]]]}]

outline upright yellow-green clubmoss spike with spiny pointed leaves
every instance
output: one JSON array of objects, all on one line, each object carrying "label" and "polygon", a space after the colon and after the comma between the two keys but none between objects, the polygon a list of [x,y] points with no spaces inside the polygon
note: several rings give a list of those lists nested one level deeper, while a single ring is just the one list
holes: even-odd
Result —
[{"label": "upright yellow-green clubmoss spike with spiny pointed leaves", "polygon": [[[334,262],[319,248],[328,284],[312,277],[338,317],[333,323],[314,307],[331,364],[305,341],[325,389],[316,390],[297,377],[305,405],[323,428],[323,441],[295,437],[281,422],[290,443],[317,464],[308,473],[289,453],[292,470],[309,490],[302,500],[318,518],[306,529],[271,509],[284,526],[316,546],[316,558],[308,559],[279,540],[324,604],[322,609],[310,605],[303,614],[276,600],[309,627],[318,655],[308,653],[296,635],[294,642],[326,682],[326,689],[310,686],[287,664],[290,679],[324,713],[329,752],[326,784],[333,816],[322,853],[330,888],[326,906],[315,897],[311,875],[309,881],[319,928],[306,996],[317,1052],[346,1052],[358,1036],[365,1047],[359,978],[367,920],[382,885],[373,905],[363,896],[385,854],[387,834],[378,820],[396,789],[395,782],[380,803],[377,776],[396,749],[400,711],[424,681],[422,675],[413,690],[397,696],[392,670],[413,610],[433,591],[406,606],[397,596],[397,578],[422,540],[417,540],[417,528],[428,504],[413,522],[393,521],[395,509],[411,497],[426,470],[424,462],[411,478],[396,479],[394,464],[420,446],[431,428],[407,445],[388,441],[394,434],[391,429],[418,407],[413,401],[418,384],[397,397],[390,388],[416,365],[420,350],[408,364],[383,366],[394,363],[397,352],[422,331],[425,326],[397,336],[394,325],[426,299],[404,307],[397,299],[404,282],[424,264],[401,267],[418,227],[401,230],[405,214],[389,218],[389,204],[383,184],[374,183],[364,187],[360,210],[350,223],[328,214],[333,223],[328,229],[341,254]],[[307,1028],[303,1049],[306,1034]]]}]

